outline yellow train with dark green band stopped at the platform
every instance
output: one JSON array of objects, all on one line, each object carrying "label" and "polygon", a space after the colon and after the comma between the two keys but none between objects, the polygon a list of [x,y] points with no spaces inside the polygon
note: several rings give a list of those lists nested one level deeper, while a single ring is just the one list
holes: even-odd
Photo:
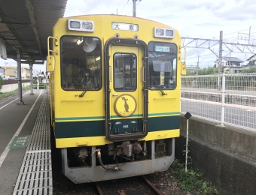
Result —
[{"label": "yellow train with dark green band stopped at the platform", "polygon": [[73,182],[169,168],[185,72],[175,28],[116,15],[59,19],[47,71],[56,148]]}]

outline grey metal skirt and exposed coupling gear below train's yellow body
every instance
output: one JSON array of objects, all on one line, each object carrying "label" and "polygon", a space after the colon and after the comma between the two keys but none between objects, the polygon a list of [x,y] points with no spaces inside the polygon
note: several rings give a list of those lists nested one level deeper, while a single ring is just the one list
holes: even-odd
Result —
[{"label": "grey metal skirt and exposed coupling gear below train's yellow body", "polygon": [[62,148],[62,172],[75,184],[146,175],[169,169],[175,139]]}]

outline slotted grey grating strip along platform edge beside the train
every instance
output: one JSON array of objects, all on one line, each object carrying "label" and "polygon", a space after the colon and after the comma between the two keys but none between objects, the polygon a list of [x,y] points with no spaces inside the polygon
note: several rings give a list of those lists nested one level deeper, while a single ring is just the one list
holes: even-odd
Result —
[{"label": "slotted grey grating strip along platform edge beside the train", "polygon": [[14,195],[52,195],[48,95],[44,94],[14,188]]}]

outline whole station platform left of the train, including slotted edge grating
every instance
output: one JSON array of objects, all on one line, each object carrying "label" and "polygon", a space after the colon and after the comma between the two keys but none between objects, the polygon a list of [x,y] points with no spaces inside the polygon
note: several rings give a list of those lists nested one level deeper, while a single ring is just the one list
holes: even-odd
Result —
[{"label": "whole station platform left of the train, including slotted edge grating", "polygon": [[47,90],[0,101],[0,195],[53,194]]}]

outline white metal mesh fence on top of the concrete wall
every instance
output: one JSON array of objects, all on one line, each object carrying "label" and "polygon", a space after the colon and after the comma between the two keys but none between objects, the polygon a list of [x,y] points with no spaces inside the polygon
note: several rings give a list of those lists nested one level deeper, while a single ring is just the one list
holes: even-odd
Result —
[{"label": "white metal mesh fence on top of the concrete wall", "polygon": [[256,131],[256,74],[181,77],[181,113]]}]

